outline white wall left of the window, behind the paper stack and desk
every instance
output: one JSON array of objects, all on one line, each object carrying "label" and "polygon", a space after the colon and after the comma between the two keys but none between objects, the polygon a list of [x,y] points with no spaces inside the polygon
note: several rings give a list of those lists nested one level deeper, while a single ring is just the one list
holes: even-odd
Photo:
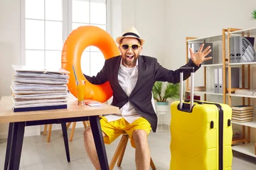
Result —
[{"label": "white wall left of the window, behind the paper stack and desk", "polygon": [[[0,1],[0,97],[11,95],[12,64],[21,64],[21,3]],[[7,137],[8,124],[0,124],[0,139]],[[25,135],[40,135],[39,127],[26,127]]]}]

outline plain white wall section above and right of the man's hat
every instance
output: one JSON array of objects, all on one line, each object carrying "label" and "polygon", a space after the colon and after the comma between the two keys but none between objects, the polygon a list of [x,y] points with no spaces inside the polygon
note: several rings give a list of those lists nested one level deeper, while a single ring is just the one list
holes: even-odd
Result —
[{"label": "plain white wall section above and right of the man's hat", "polygon": [[145,39],[142,55],[156,57],[161,64],[164,45],[164,0],[122,1],[122,32],[134,26]]}]

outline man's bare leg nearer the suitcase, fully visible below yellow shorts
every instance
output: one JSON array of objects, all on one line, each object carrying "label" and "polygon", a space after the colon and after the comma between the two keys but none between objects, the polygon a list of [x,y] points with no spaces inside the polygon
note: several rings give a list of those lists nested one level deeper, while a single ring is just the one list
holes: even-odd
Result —
[{"label": "man's bare leg nearer the suitcase, fully visible below yellow shorts", "polygon": [[136,145],[135,161],[139,170],[149,170],[150,166],[150,150],[147,135],[145,130],[134,130],[132,132]]}]

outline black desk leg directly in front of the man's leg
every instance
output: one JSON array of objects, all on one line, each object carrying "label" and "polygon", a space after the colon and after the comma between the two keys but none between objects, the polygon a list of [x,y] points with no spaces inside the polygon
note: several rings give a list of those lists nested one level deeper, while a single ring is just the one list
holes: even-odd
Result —
[{"label": "black desk leg directly in front of the man's leg", "polygon": [[98,115],[90,116],[90,126],[92,128],[92,135],[95,140],[95,147],[97,149],[100,167],[102,170],[109,170],[110,168],[107,162],[105,143],[103,141],[102,129],[100,127],[100,118]]}]

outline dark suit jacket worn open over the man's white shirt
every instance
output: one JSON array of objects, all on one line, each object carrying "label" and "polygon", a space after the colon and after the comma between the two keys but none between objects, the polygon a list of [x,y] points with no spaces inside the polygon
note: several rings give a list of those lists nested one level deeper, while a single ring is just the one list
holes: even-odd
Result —
[{"label": "dark suit jacket worn open over the man's white shirt", "polygon": [[[122,108],[129,101],[149,121],[153,132],[156,132],[157,116],[151,103],[152,87],[155,81],[168,81],[173,84],[179,83],[180,70],[176,69],[173,71],[165,69],[161,67],[156,58],[140,55],[138,57],[139,77],[137,84],[130,96],[127,96],[117,79],[121,58],[121,56],[117,56],[105,60],[104,67],[96,77],[85,75],[85,78],[92,84],[103,84],[109,81],[113,91],[112,105]],[[191,60],[184,66],[193,66],[196,70],[199,69]],[[183,72],[183,79],[188,79],[188,77],[190,77],[190,73]]]}]

